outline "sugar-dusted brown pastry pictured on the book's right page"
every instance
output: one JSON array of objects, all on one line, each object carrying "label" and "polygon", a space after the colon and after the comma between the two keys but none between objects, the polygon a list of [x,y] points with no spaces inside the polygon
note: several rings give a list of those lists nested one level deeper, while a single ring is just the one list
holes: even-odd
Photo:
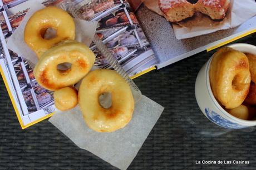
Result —
[{"label": "sugar-dusted brown pastry pictured on the book's right page", "polygon": [[159,8],[170,22],[180,22],[192,17],[195,12],[208,15],[211,19],[223,19],[229,8],[229,0],[199,0],[191,4],[186,0],[158,0]]}]

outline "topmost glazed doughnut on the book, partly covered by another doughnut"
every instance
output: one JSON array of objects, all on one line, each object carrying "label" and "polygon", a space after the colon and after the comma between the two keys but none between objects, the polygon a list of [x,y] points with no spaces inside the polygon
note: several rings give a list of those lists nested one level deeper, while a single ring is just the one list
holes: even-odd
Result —
[{"label": "topmost glazed doughnut on the book, partly covered by another doughnut", "polygon": [[[56,30],[56,36],[44,39],[48,28]],[[57,7],[46,7],[35,12],[29,18],[24,29],[24,41],[40,58],[47,49],[64,39],[75,39],[75,23],[73,18]]]}]

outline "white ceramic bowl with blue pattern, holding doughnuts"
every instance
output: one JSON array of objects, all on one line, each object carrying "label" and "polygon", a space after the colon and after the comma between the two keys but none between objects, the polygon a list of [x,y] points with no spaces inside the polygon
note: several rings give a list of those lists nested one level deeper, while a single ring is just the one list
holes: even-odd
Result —
[{"label": "white ceramic bowl with blue pattern, holding doughnuts", "polygon": [[[256,46],[250,44],[232,44],[228,47],[234,48],[240,52],[252,53],[256,55]],[[250,126],[256,126],[256,121],[245,121],[232,116],[226,112],[213,96],[210,87],[209,68],[212,57],[204,64],[198,73],[195,82],[195,97],[201,111],[210,119],[211,122],[218,124],[221,127],[241,129]]]}]

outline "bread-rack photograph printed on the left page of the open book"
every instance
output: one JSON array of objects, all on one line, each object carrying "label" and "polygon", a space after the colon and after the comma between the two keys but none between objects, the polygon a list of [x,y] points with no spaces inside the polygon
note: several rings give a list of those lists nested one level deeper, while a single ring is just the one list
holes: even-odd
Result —
[{"label": "bread-rack photograph printed on the left page of the open book", "polygon": [[[0,12],[0,24],[4,41],[16,30],[29,8],[22,4],[21,0],[2,1],[3,6]],[[45,6],[58,6],[63,1],[47,0],[41,1]],[[149,41],[141,29],[130,4],[122,0],[92,0],[92,1],[71,1],[76,8],[80,9],[87,21],[97,21],[96,34],[100,37],[114,57],[130,75],[134,76],[147,68],[155,66],[157,59],[152,51]],[[95,44],[91,43],[90,48],[96,55],[95,65],[100,68],[111,69],[104,55],[102,55]],[[12,67],[12,79],[19,97],[22,116],[28,117],[31,123],[55,111],[53,92],[42,88],[33,75],[33,69],[22,56],[12,51],[4,51],[10,57],[7,65]],[[6,66],[7,67],[7,66]],[[17,90],[19,89],[19,90]],[[22,101],[20,101],[22,99]],[[33,116],[37,113],[38,117]],[[42,114],[43,113],[43,114]],[[30,116],[30,117],[29,117]]]}]

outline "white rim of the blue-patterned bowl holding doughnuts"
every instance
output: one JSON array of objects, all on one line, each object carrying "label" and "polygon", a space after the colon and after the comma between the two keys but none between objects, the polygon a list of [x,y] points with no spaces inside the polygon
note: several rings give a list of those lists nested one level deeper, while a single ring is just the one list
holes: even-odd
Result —
[{"label": "white rim of the blue-patterned bowl holding doughnuts", "polygon": [[[226,47],[230,47],[230,48],[244,48],[244,50],[246,51],[246,49],[254,49],[256,54],[256,46],[253,46],[251,44],[246,44],[246,43],[235,43],[235,44],[230,44],[229,46]],[[222,47],[223,48],[223,47]],[[239,50],[240,51],[240,50]],[[243,51],[243,50],[241,50]],[[243,52],[245,52],[243,51]],[[213,54],[214,55],[214,54]],[[211,60],[213,59],[213,56],[210,57],[208,63],[206,64],[206,71],[205,71],[205,76],[206,76],[206,88],[208,89],[208,93],[210,94],[210,98],[211,101],[213,101],[214,105],[216,106],[216,108],[219,109],[219,111],[221,113],[223,113],[225,116],[227,116],[230,119],[233,119],[235,122],[239,122],[239,123],[243,123],[243,124],[251,124],[251,125],[255,125],[256,124],[256,120],[255,121],[248,121],[248,120],[244,120],[244,119],[240,119],[237,117],[232,116],[232,114],[229,114],[227,111],[225,111],[225,109],[223,107],[220,106],[219,102],[216,101],[213,92],[211,91],[211,86],[210,86],[210,78],[209,78],[209,70],[210,70],[210,63]]]}]

